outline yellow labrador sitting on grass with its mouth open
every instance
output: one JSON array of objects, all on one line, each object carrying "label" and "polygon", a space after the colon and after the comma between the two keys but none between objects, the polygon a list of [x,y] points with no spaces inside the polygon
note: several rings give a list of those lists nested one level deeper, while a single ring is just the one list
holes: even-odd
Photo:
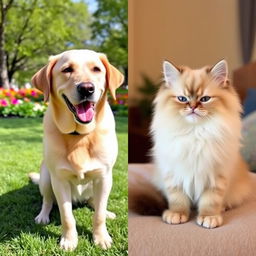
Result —
[{"label": "yellow labrador sitting on grass with its mouth open", "polygon": [[49,99],[44,117],[44,159],[39,174],[42,209],[35,218],[47,224],[57,201],[62,224],[61,248],[73,250],[78,243],[72,201],[87,200],[95,209],[93,240],[107,249],[112,239],[106,217],[117,157],[115,122],[107,102],[107,90],[115,98],[123,75],[106,56],[90,50],[70,50],[52,56],[32,83]]}]

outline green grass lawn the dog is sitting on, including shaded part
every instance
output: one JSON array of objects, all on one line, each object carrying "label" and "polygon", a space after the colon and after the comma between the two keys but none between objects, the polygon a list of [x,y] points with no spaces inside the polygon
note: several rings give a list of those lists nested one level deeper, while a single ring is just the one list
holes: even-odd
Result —
[{"label": "green grass lawn the dog is sitting on, including shaded part", "polygon": [[74,252],[59,249],[61,225],[54,206],[47,226],[36,225],[41,196],[27,174],[39,171],[42,160],[42,119],[0,118],[0,255],[127,255],[127,118],[117,117],[119,156],[113,170],[114,182],[108,209],[117,218],[107,220],[113,238],[103,251],[92,241],[92,210],[74,207],[79,235]]}]

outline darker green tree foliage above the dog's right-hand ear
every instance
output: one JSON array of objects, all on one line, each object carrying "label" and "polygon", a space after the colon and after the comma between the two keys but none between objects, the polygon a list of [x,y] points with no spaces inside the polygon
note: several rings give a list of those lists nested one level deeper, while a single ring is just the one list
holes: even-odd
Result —
[{"label": "darker green tree foliage above the dog's right-hand ear", "polygon": [[99,51],[128,74],[128,4],[127,0],[96,0],[92,39]]}]

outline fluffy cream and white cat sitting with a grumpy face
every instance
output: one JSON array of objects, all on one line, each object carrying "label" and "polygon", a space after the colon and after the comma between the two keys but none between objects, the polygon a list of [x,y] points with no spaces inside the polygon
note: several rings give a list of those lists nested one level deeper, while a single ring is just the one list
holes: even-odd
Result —
[{"label": "fluffy cream and white cat sitting with a grumpy face", "polygon": [[154,104],[153,183],[166,197],[169,224],[188,221],[197,206],[197,223],[215,228],[221,212],[249,195],[246,163],[240,155],[241,105],[228,80],[225,60],[192,70],[163,64],[164,85]]}]

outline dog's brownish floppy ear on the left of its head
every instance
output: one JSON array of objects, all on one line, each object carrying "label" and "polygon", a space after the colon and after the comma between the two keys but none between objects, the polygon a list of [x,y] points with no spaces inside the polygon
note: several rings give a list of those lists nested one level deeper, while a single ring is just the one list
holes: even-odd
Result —
[{"label": "dog's brownish floppy ear on the left of its head", "polygon": [[51,84],[52,84],[52,69],[58,60],[58,55],[51,56],[49,58],[49,63],[37,71],[32,79],[32,85],[34,85],[38,90],[44,93],[44,101],[47,101],[50,96]]}]

